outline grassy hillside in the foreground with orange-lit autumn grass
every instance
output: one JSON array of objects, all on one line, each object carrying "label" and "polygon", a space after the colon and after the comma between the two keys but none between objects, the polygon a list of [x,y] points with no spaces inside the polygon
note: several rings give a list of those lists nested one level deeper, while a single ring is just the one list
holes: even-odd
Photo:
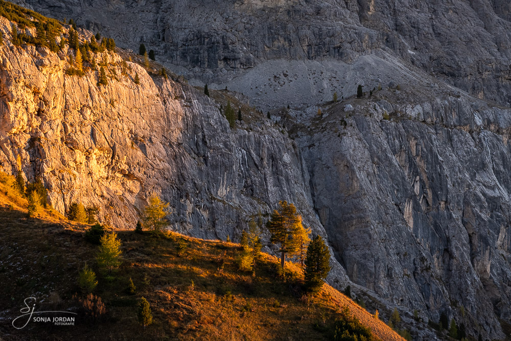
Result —
[{"label": "grassy hillside in the foreground with orange-lit autumn grass", "polygon": [[[333,339],[336,326],[337,335],[342,334],[346,322],[357,329],[356,320],[368,327],[374,339],[401,339],[328,285],[315,298],[304,295],[303,272],[292,263],[287,264],[286,280],[277,275],[278,260],[267,254],[261,255],[255,274],[240,271],[241,247],[234,243],[176,233],[117,231],[123,261],[114,278],[108,278],[95,263],[98,246],[84,239],[89,225],[42,209],[28,218],[27,200],[10,187],[13,178],[0,180],[4,181],[0,183],[3,339],[316,340]],[[78,272],[85,263],[98,274],[94,294],[106,307],[98,319],[87,317],[78,300],[83,296]],[[136,286],[134,294],[128,290],[130,278]],[[38,300],[37,311],[78,312],[76,325],[29,323],[14,329],[13,317],[31,296]],[[149,301],[154,319],[146,328],[138,325],[135,313],[142,296]]]}]

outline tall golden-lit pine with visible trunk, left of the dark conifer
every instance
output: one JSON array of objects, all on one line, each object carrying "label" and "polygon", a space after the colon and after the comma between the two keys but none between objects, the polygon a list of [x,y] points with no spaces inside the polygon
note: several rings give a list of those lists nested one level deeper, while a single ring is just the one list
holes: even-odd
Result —
[{"label": "tall golden-lit pine with visible trunk, left of the dark conifer", "polygon": [[280,244],[281,266],[284,268],[286,254],[293,254],[298,248],[296,236],[303,229],[301,216],[296,212],[293,203],[279,201],[280,212],[274,210],[266,228],[271,234],[270,242]]}]

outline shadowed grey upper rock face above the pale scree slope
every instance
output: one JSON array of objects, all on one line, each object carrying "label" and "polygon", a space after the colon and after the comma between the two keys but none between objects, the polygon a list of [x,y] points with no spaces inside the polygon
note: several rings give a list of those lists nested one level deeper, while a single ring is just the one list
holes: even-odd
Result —
[{"label": "shadowed grey upper rock face above the pale scree slope", "polygon": [[[158,60],[179,66],[189,78],[202,82],[230,85],[233,79],[243,78],[247,69],[272,60],[353,62],[361,55],[384,51],[479,98],[504,105],[511,102],[511,24],[506,1],[19,3],[60,19],[73,17],[88,29],[115,38],[125,48],[136,50],[143,42],[156,51]],[[334,75],[310,67],[324,71],[324,78]],[[270,71],[264,76],[272,78]],[[378,74],[360,75],[356,81],[372,84],[375,76],[378,78]],[[393,76],[399,78],[399,73]],[[242,83],[235,82],[229,88],[252,98],[257,95],[257,84]],[[346,85],[347,80],[339,79],[298,92],[305,97],[320,96],[316,92],[322,89],[326,92],[320,97],[324,101],[331,99],[334,91],[344,96],[354,94],[356,88],[344,89]],[[257,97],[275,96],[273,92],[264,95]]]}]

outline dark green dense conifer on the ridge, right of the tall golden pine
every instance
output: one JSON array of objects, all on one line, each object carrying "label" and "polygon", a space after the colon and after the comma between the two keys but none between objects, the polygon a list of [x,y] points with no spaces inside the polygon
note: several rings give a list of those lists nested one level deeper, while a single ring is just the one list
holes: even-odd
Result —
[{"label": "dark green dense conifer on the ridge, right of the tall golden pine", "polygon": [[312,239],[305,258],[305,285],[313,293],[323,286],[323,280],[330,271],[330,252],[321,236]]}]

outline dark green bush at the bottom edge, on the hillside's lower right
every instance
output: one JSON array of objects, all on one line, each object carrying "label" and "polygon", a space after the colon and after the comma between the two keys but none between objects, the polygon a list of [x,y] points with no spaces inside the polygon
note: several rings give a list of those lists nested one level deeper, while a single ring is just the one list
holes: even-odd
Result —
[{"label": "dark green bush at the bottom edge, on the hillside's lower right", "polygon": [[332,340],[334,341],[373,341],[375,337],[371,330],[364,326],[357,317],[350,313],[348,308],[341,312],[341,319],[333,327]]}]

